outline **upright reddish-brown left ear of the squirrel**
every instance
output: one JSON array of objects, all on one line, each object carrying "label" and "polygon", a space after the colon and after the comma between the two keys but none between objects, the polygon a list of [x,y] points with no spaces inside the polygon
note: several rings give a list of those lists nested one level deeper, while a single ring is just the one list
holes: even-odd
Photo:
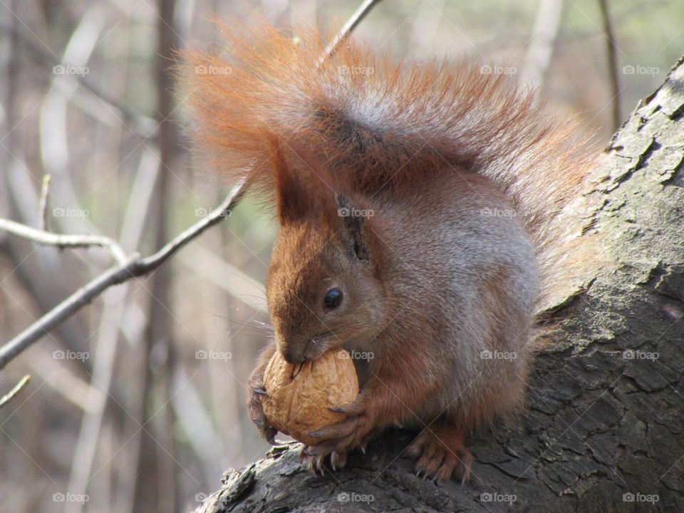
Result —
[{"label": "upright reddish-brown left ear of the squirrel", "polygon": [[276,190],[276,207],[280,224],[301,219],[306,212],[306,187],[285,161],[279,140],[271,140],[271,167]]}]

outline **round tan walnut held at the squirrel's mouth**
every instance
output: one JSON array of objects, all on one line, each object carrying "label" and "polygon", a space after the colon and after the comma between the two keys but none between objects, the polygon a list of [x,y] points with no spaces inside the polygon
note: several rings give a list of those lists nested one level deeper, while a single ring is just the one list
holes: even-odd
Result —
[{"label": "round tan walnut held at the squirrel's mouth", "polygon": [[358,395],[358,378],[349,353],[333,348],[321,358],[294,366],[276,351],[264,371],[261,405],[269,424],[306,445],[320,440],[307,431],[344,420],[334,408],[351,403]]}]

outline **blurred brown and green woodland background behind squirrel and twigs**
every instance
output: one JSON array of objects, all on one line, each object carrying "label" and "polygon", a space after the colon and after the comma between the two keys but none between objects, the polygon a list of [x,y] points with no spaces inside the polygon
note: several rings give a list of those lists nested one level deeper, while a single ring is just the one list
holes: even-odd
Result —
[{"label": "blurred brown and green woodland background behind squirrel and twigs", "polygon": [[[149,254],[230,185],[193,168],[171,49],[220,44],[212,13],[328,25],[358,3],[0,0],[0,217],[40,226],[49,174],[49,229]],[[398,58],[482,59],[539,87],[551,113],[575,116],[602,147],[684,53],[684,4],[385,0],[356,34]],[[2,511],[189,511],[224,470],[264,455],[244,389],[268,336],[275,233],[249,197],[0,371],[0,396],[33,378],[0,410]],[[112,265],[103,249],[0,232],[0,344]]]}]

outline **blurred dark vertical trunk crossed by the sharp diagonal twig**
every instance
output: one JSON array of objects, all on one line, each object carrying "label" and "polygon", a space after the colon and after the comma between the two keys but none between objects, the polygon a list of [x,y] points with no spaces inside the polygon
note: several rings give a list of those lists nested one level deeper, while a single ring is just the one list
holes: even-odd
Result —
[{"label": "blurred dark vertical trunk crossed by the sharp diagonal twig", "polygon": [[[171,212],[171,186],[174,172],[175,152],[178,145],[178,128],[174,119],[174,101],[171,90],[174,78],[169,73],[172,51],[181,41],[175,31],[176,0],[156,2],[157,52],[154,61],[154,87],[156,90],[156,120],[159,135],[159,171],[155,192],[150,202],[151,229],[155,247],[160,247],[169,237]],[[172,397],[172,376],[176,361],[176,323],[171,286],[174,281],[172,266],[160,267],[147,281],[147,290],[152,298],[147,309],[147,326],[142,340],[142,366],[140,370],[140,393],[143,398],[142,418],[152,420],[149,430],[143,430],[138,450],[138,465],[135,481],[135,509],[157,509],[162,512],[180,512],[177,444],[172,435],[176,421],[172,408],[166,408]],[[152,352],[159,351],[164,358],[156,371],[152,364]],[[164,408],[157,410],[155,401]],[[158,445],[164,447],[163,453]],[[140,479],[142,477],[142,479]],[[152,486],[150,486],[152,484]],[[197,483],[199,484],[199,483]]]}]

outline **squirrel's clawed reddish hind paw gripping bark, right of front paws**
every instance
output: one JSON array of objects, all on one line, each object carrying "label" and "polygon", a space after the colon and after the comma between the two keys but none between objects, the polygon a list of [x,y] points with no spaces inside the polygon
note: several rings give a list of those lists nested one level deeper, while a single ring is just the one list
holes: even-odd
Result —
[{"label": "squirrel's clawed reddish hind paw gripping bark, right of front paws", "polygon": [[453,427],[428,427],[413,440],[406,453],[418,458],[415,463],[418,477],[446,481],[453,476],[464,484],[470,477],[472,455],[463,442],[463,435]]}]

